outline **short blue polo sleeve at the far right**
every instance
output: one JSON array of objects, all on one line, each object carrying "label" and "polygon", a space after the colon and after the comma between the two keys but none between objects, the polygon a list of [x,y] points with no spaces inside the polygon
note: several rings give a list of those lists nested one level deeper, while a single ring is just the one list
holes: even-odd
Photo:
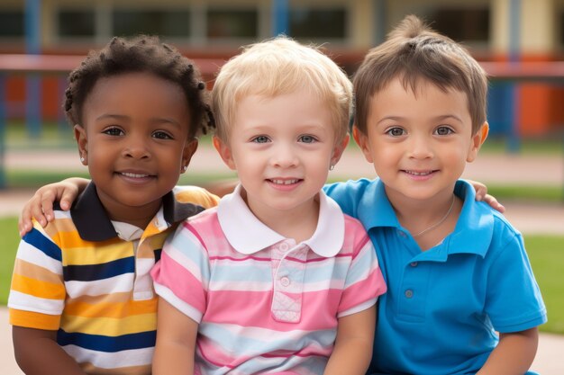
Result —
[{"label": "short blue polo sleeve at the far right", "polygon": [[512,233],[488,272],[486,313],[502,333],[523,331],[547,320],[523,237]]}]

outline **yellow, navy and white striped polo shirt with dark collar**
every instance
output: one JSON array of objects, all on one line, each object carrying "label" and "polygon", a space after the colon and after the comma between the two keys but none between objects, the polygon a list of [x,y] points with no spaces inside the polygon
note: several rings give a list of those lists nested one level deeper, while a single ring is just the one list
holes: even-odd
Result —
[{"label": "yellow, navy and white striped polo shirt with dark collar", "polygon": [[90,183],[70,211],[56,210],[47,228],[35,222],[23,237],[10,323],[58,330],[59,345],[88,374],[150,374],[158,300],[150,269],[177,223],[217,201],[196,187],[169,192],[141,237],[124,240],[116,233],[124,223],[114,228]]}]

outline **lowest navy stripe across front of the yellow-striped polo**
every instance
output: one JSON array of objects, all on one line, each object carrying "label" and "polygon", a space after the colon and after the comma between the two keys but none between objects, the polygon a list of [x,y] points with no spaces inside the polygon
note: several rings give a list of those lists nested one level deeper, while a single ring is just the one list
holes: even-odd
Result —
[{"label": "lowest navy stripe across front of the yellow-striped polo", "polygon": [[151,348],[155,346],[157,331],[121,336],[88,335],[68,333],[59,329],[57,343],[60,346],[77,345],[97,352],[115,353],[123,350]]}]

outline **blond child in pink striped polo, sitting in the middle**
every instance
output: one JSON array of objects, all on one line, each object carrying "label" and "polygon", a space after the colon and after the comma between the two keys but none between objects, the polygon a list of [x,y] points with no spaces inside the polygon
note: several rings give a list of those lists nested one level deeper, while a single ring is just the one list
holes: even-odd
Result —
[{"label": "blond child in pink striped polo, sitting in the middle", "polygon": [[386,285],[359,221],[321,191],[351,92],[330,58],[286,38],[222,67],[214,146],[241,184],[177,228],[151,272],[153,373],[365,373]]}]

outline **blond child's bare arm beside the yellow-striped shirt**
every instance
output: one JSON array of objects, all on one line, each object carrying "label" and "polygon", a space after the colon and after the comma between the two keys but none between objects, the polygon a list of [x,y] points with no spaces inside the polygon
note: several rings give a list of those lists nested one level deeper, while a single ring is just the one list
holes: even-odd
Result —
[{"label": "blond child's bare arm beside the yellow-striped shirt", "polygon": [[198,324],[159,297],[154,375],[193,375]]}]

